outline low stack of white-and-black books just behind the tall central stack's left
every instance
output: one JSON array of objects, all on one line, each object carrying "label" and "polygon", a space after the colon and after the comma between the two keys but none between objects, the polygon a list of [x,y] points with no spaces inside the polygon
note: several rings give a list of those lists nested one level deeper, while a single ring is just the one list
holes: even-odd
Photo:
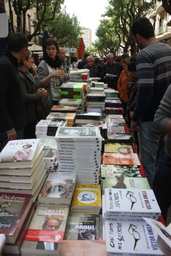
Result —
[{"label": "low stack of white-and-black books just behind the tall central stack's left", "polygon": [[67,121],[59,121],[56,119],[52,120],[40,120],[38,124],[36,124],[36,137],[38,139],[46,139],[55,136],[58,127],[68,126]]}]

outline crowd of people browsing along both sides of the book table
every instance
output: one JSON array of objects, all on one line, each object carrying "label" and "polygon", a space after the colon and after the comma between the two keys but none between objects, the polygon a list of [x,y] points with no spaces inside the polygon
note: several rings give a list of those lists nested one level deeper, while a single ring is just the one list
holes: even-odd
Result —
[{"label": "crowd of people browsing along both sides of the book table", "polygon": [[90,77],[99,77],[119,92],[125,120],[166,220],[171,204],[171,48],[158,42],[147,18],[137,19],[131,31],[140,49],[137,55],[114,57],[109,52],[106,59],[99,59],[86,52],[81,60],[72,56],[70,66],[55,39],[46,40],[36,67],[26,36],[9,35],[0,58],[0,139],[5,146],[9,140],[35,138],[36,123],[58,104],[70,69],[88,68]]}]

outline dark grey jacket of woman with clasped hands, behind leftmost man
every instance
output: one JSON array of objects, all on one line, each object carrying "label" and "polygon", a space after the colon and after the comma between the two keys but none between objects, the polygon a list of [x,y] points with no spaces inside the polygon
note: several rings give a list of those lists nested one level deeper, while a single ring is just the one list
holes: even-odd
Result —
[{"label": "dark grey jacket of woman with clasped hands, behind leftmost man", "polygon": [[19,68],[19,77],[21,79],[21,88],[26,105],[27,122],[37,121],[38,112],[36,101],[42,99],[42,94],[35,91],[36,83],[34,77],[28,72]]}]

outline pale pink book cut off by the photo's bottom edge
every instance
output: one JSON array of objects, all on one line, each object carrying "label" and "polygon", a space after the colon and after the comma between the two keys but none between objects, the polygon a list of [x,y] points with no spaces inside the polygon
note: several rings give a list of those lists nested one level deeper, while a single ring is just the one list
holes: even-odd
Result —
[{"label": "pale pink book cut off by the photo's bottom edge", "polygon": [[107,256],[105,241],[64,240],[60,243],[60,256]]}]

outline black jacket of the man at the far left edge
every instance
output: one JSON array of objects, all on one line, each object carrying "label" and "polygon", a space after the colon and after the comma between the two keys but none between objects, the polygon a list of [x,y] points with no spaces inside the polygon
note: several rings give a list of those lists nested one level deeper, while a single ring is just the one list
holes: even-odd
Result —
[{"label": "black jacket of the man at the far left edge", "polygon": [[17,59],[4,51],[0,58],[0,131],[21,129],[27,123],[17,67]]}]

